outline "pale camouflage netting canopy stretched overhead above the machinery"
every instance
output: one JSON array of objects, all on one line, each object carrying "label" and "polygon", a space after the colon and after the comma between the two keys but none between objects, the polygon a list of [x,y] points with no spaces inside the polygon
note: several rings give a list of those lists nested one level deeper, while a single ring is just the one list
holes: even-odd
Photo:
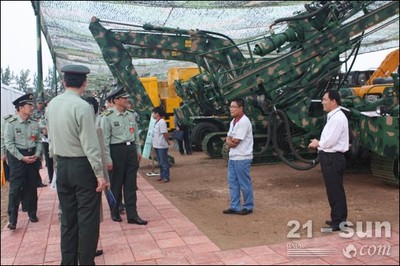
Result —
[{"label": "pale camouflage netting canopy stretched overhead above the machinery", "polygon": [[[32,1],[36,2],[36,1]],[[279,18],[304,10],[310,1],[38,1],[41,27],[60,70],[66,64],[84,64],[91,71],[93,86],[111,84],[113,77],[100,48],[89,31],[90,19],[142,26],[150,23],[180,29],[201,29],[222,33],[236,43],[268,35]],[[378,5],[382,5],[378,2]],[[35,9],[35,5],[32,4]],[[127,26],[105,24],[112,29]],[[376,28],[376,27],[375,27]],[[394,23],[377,30],[363,41],[360,53],[398,47],[398,16]],[[140,75],[165,77],[172,66],[190,63],[156,59],[134,59]]]}]

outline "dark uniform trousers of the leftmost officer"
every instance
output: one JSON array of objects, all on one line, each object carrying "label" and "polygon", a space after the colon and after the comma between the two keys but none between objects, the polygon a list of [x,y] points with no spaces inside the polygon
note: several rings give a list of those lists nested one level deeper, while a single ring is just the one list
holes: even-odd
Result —
[{"label": "dark uniform trousers of the leftmost officer", "polygon": [[[31,151],[19,150],[24,156],[35,154],[35,149]],[[8,153],[8,164],[10,167],[10,191],[8,201],[9,222],[17,224],[18,207],[22,200],[28,211],[29,217],[36,217],[37,212],[37,176],[39,175],[39,161],[27,164],[18,160]],[[24,205],[25,205],[24,204]]]}]

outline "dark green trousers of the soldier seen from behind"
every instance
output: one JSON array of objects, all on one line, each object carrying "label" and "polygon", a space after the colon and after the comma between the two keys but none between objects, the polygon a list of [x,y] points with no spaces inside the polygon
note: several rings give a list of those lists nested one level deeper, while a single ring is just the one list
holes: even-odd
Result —
[{"label": "dark green trousers of the soldier seen from behind", "polygon": [[101,193],[86,157],[57,160],[62,265],[93,265],[99,239]]}]

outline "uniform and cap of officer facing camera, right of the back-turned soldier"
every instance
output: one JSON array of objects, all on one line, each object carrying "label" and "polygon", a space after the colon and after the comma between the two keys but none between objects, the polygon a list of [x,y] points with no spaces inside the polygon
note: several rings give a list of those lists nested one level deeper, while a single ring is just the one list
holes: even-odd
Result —
[{"label": "uniform and cap of officer facing camera, right of the back-turned soldier", "polygon": [[[129,94],[126,87],[120,86],[109,97],[112,99],[126,98]],[[128,223],[147,224],[141,220],[136,209],[136,175],[139,169],[138,155],[141,154],[139,128],[134,113],[125,109],[122,113],[116,107],[103,112],[101,118],[105,142],[107,164],[112,164],[110,173],[111,191],[117,200],[116,207],[111,211],[114,221],[122,221],[119,206],[124,191],[124,201]]]}]

